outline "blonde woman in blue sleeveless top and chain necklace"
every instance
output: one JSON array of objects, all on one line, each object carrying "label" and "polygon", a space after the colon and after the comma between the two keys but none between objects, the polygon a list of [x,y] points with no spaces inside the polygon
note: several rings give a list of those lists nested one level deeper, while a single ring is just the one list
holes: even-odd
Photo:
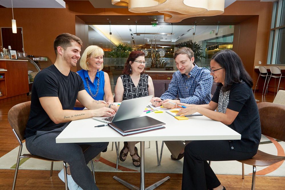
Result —
[{"label": "blonde woman in blue sleeveless top and chain necklace", "polygon": [[[111,91],[109,75],[102,71],[103,69],[103,56],[104,51],[102,48],[92,45],[88,46],[80,59],[80,67],[82,70],[76,73],[82,78],[85,90],[94,99],[104,102],[104,96],[107,104],[110,105],[114,102],[113,94]],[[104,102],[104,103],[106,103]],[[84,106],[76,100],[74,110],[83,110]],[[98,154],[94,161],[98,162],[100,154]]]}]

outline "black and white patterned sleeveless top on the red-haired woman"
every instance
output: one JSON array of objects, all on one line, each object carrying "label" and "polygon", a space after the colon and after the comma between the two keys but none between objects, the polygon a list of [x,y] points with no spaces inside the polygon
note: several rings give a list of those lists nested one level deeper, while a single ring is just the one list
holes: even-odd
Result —
[{"label": "black and white patterned sleeveless top on the red-haired woman", "polygon": [[136,87],[129,74],[120,76],[124,86],[123,100],[148,96],[148,75],[141,74],[140,81]]}]

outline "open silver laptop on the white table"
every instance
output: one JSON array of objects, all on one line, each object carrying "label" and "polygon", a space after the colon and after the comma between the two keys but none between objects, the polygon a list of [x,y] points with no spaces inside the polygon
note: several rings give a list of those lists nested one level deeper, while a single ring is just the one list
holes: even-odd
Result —
[{"label": "open silver laptop on the white table", "polygon": [[94,120],[110,123],[112,121],[121,121],[136,118],[142,115],[146,106],[149,104],[151,96],[144,96],[141,98],[134,98],[130,100],[123,100],[114,116],[111,117],[93,117]]}]

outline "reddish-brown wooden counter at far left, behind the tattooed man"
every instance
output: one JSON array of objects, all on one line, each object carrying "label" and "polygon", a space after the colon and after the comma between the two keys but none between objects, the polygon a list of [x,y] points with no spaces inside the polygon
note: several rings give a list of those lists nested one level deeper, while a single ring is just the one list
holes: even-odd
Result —
[{"label": "reddish-brown wooden counter at far left, behind the tattooed man", "polygon": [[29,93],[27,60],[0,59],[0,68],[7,70],[0,70],[0,100]]}]

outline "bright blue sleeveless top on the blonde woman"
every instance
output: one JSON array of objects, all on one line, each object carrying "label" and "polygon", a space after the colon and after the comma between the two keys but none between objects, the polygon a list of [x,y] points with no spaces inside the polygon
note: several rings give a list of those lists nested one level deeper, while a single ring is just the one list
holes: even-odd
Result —
[{"label": "bright blue sleeveless top on the blonde woman", "polygon": [[[102,71],[102,70],[97,71],[95,79],[94,79],[94,83],[91,82],[87,70],[82,69],[82,70],[77,71],[77,73],[82,78],[85,90],[88,92],[88,94],[94,100],[103,100],[104,99],[104,86],[105,86],[104,71]],[[87,83],[89,85],[89,88],[88,88]],[[98,83],[99,83],[99,86],[98,86]],[[97,88],[98,88],[98,93],[97,93]],[[96,93],[97,93],[97,95],[96,95]],[[83,109],[84,108],[74,107],[74,110],[83,110]]]}]

